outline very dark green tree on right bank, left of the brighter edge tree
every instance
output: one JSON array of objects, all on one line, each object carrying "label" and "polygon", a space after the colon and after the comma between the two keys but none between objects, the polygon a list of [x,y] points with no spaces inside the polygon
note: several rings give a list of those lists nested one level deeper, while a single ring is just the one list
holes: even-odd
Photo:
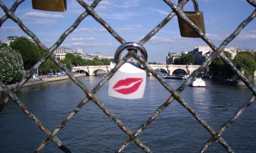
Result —
[{"label": "very dark green tree on right bank, left of the brighter edge tree", "polygon": [[[231,60],[231,54],[229,52],[223,51],[223,53],[227,56],[227,58],[229,58],[229,60]],[[219,56],[212,60],[211,64],[209,65],[209,70],[213,75],[226,77],[234,75],[234,72],[219,58]]]}]

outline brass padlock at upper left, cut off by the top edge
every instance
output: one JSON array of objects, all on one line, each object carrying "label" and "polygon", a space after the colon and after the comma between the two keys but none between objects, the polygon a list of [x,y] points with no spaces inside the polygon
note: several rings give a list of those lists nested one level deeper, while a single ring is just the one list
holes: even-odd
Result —
[{"label": "brass padlock at upper left, cut off by the top edge", "polygon": [[66,0],[32,0],[33,9],[43,11],[66,12]]}]

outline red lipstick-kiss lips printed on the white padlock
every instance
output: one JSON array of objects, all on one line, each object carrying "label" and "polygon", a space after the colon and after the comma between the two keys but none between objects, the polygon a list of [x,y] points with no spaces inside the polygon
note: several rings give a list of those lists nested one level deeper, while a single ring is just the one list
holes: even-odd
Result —
[{"label": "red lipstick-kiss lips printed on the white padlock", "polygon": [[131,94],[137,91],[143,81],[143,78],[127,78],[118,81],[114,86],[113,90],[121,94]]}]

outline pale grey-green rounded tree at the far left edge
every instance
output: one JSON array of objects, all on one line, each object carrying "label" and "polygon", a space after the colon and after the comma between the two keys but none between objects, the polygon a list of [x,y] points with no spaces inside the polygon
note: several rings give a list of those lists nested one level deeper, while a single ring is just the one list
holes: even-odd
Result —
[{"label": "pale grey-green rounded tree at the far left edge", "polygon": [[0,47],[0,80],[12,81],[23,76],[23,61],[19,52],[9,46]]}]

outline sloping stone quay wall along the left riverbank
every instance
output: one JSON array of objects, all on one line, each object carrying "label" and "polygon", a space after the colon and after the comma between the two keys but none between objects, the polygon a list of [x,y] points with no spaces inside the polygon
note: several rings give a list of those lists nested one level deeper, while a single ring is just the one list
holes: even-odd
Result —
[{"label": "sloping stone quay wall along the left riverbank", "polygon": [[[86,74],[85,73],[75,74],[74,76],[77,78],[77,77],[80,77],[80,76],[86,76]],[[65,76],[59,76],[59,77],[53,77],[53,78],[42,78],[41,80],[38,79],[38,80],[34,80],[34,81],[28,81],[22,87],[37,85],[37,84],[46,83],[46,82],[61,81],[61,80],[65,80],[65,79],[69,79],[69,77],[67,75],[65,75]],[[12,90],[12,89],[15,88],[16,85],[17,84],[14,83],[12,85],[7,85],[7,86],[8,86],[9,89]],[[4,92],[4,89],[0,88],[0,92]]]}]

